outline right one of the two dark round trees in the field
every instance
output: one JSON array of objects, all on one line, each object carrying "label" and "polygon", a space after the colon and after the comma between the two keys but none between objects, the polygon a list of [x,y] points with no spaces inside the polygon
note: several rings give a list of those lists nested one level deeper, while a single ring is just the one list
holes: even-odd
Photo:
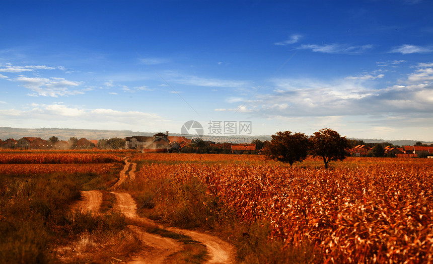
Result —
[{"label": "right one of the two dark round trees in the field", "polygon": [[329,161],[343,160],[346,158],[346,148],[350,147],[346,137],[341,137],[337,131],[329,128],[320,129],[310,138],[311,153],[322,157],[325,168]]}]

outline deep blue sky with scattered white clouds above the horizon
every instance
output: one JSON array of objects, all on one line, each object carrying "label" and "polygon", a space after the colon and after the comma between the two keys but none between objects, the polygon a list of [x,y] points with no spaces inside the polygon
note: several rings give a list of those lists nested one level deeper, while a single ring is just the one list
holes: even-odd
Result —
[{"label": "deep blue sky with scattered white clouds above the horizon", "polygon": [[0,2],[2,127],[433,141],[431,1]]}]

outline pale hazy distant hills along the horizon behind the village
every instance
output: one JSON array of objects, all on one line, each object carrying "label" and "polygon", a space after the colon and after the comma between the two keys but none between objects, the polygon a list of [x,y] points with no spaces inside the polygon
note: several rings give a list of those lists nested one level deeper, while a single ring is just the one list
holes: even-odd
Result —
[{"label": "pale hazy distant hills along the horizon behind the village", "polygon": [[[73,129],[73,128],[13,128],[13,127],[0,127],[0,139],[6,140],[8,138],[20,139],[23,137],[40,137],[42,139],[49,139],[56,136],[59,140],[68,140],[70,137],[87,138],[87,139],[101,139],[101,138],[125,138],[131,136],[153,136],[158,132],[139,132],[131,130],[100,130],[100,129]],[[170,133],[170,136],[180,136],[179,133]],[[191,136],[192,137],[192,136]],[[203,140],[210,140],[215,142],[233,142],[233,143],[250,143],[254,139],[262,141],[271,140],[270,135],[250,136],[250,135],[237,135],[237,136],[203,136]],[[393,145],[414,145],[419,140],[384,140],[384,139],[369,139],[369,138],[350,138],[364,140],[366,143],[383,143],[388,142]],[[433,144],[433,142],[421,141],[423,144]]]}]

